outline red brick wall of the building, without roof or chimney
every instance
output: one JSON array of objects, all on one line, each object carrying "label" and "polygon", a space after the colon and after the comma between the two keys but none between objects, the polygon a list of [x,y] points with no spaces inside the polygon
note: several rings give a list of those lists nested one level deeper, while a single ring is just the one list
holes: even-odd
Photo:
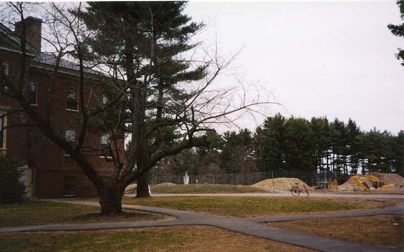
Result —
[{"label": "red brick wall of the building, without roof or chimney", "polygon": [[[9,64],[9,78],[16,84],[19,81],[19,59],[17,56],[9,54],[1,54],[1,59]],[[49,87],[49,75],[37,68],[28,68],[25,73],[25,93],[28,97],[29,81],[37,81],[37,106],[35,109],[45,114],[46,91]],[[52,126],[56,129],[60,136],[64,136],[65,129],[76,129],[79,133],[80,112],[66,110],[66,89],[67,87],[77,87],[77,77],[73,75],[59,75],[57,85],[52,94],[51,118]],[[92,83],[89,83],[89,85]],[[90,103],[100,101],[100,93],[91,94]],[[94,99],[95,95],[98,99]],[[88,97],[84,97],[89,99]],[[20,105],[0,95],[0,107],[19,108]],[[8,116],[8,126],[29,123],[30,119],[24,113],[16,113]],[[86,136],[88,143],[99,145],[99,134],[88,134]],[[122,140],[120,146],[121,158],[124,158],[124,142]],[[64,155],[62,149],[54,143],[46,139],[37,128],[17,127],[7,131],[7,154],[25,162],[30,159],[35,163],[35,195],[40,198],[65,198],[65,177],[76,178],[76,194],[75,198],[96,197],[95,187],[86,177],[84,172],[70,158]],[[94,156],[87,157],[87,160],[99,170],[103,170],[103,176],[109,176],[112,173],[113,162],[106,162],[104,158],[99,157],[99,152],[95,151]]]}]

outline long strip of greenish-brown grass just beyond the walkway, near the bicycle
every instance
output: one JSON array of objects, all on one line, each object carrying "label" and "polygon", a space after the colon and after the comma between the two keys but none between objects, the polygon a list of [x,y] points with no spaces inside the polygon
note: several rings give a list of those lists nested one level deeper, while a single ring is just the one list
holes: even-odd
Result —
[{"label": "long strip of greenish-brown grass just beyond the walkway, near the bicycle", "polygon": [[124,198],[122,204],[204,212],[218,216],[259,217],[360,211],[393,206],[402,200],[308,197],[151,197]]}]

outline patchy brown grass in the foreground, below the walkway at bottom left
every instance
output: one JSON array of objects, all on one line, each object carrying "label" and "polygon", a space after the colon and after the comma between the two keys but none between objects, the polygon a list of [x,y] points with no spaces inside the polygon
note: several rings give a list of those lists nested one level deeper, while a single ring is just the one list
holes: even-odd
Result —
[{"label": "patchy brown grass in the foreground, below the walkway at bottom left", "polygon": [[0,234],[7,251],[313,251],[209,226]]}]

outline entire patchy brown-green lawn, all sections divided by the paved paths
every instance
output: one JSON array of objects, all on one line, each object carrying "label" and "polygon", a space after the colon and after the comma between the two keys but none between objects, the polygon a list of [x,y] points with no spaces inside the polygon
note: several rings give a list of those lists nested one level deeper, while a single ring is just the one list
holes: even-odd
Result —
[{"label": "entire patchy brown-green lawn, all sections divided by the paved paths", "polygon": [[[125,198],[123,204],[165,207],[234,217],[299,215],[359,211],[393,206],[402,200],[265,198],[265,197],[152,197]],[[53,202],[25,202],[0,206],[0,226],[55,223],[153,221],[165,216],[124,210],[120,216],[99,217],[99,207]],[[382,218],[382,219],[380,219]],[[338,218],[269,223],[282,228],[325,235],[359,243],[385,245],[377,236],[386,232],[387,245],[402,247],[402,217]],[[398,224],[398,225],[396,225]],[[354,226],[352,226],[354,225]],[[352,229],[353,228],[353,229]],[[354,230],[357,235],[351,235]],[[383,231],[387,230],[387,231]],[[317,232],[317,233],[316,233]],[[340,235],[340,234],[345,234]],[[373,237],[372,235],[376,235]],[[348,237],[346,237],[348,236]],[[395,237],[395,239],[391,239]],[[384,239],[384,240],[386,240]],[[369,243],[368,240],[372,240]],[[397,241],[398,240],[398,241]],[[173,226],[136,229],[0,233],[0,251],[306,251],[303,248],[207,226]],[[309,251],[309,250],[307,250]]]}]

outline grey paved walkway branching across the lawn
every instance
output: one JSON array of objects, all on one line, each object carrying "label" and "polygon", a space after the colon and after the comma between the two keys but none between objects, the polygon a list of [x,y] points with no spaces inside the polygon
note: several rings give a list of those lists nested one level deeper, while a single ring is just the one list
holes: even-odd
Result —
[{"label": "grey paved walkway branching across the lawn", "polygon": [[[79,202],[79,201],[58,201],[58,202],[99,206],[97,203],[93,202]],[[373,216],[382,214],[404,215],[404,205],[377,210],[361,211],[361,212],[347,212],[347,213],[305,215],[305,216],[274,216],[274,217],[257,217],[257,218],[218,217],[203,213],[194,213],[188,211],[179,211],[172,209],[143,207],[143,206],[123,205],[122,207],[126,209],[136,209],[165,215],[171,215],[175,216],[177,219],[165,220],[165,221],[148,221],[148,222],[54,224],[54,225],[42,225],[42,226],[6,227],[6,228],[0,228],[0,233],[24,232],[24,231],[101,230],[101,229],[121,229],[121,228],[138,228],[138,227],[157,227],[157,226],[161,227],[161,226],[176,226],[176,225],[208,225],[231,230],[234,232],[239,232],[242,234],[289,243],[300,247],[311,248],[319,251],[402,251],[402,249],[399,248],[371,246],[366,244],[330,239],[318,235],[275,228],[263,225],[262,223],[287,221],[287,220],[315,219],[315,218]]]}]

